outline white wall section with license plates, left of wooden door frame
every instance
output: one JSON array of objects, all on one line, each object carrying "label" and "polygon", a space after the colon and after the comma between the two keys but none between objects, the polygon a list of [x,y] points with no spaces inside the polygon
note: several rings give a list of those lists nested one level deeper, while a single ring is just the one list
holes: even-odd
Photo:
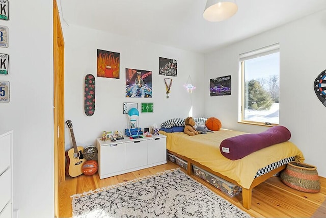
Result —
[{"label": "white wall section with license plates, left of wooden door frame", "polygon": [[[14,130],[14,209],[19,217],[53,217],[52,1],[10,1],[10,103],[0,103],[0,129]],[[0,160],[1,161],[1,160]],[[0,197],[1,198],[1,197]]]}]

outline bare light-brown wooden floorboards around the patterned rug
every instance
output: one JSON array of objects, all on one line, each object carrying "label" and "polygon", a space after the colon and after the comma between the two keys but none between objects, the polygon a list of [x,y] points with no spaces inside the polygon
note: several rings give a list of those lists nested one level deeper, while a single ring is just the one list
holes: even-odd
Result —
[{"label": "bare light-brown wooden floorboards around the patterned rug", "polygon": [[[179,166],[168,161],[167,164],[106,179],[100,179],[98,174],[81,175],[76,178],[67,177],[66,181],[59,184],[59,217],[71,217],[70,196],[75,193],[118,184],[177,167]],[[202,181],[197,177],[194,179]],[[241,194],[231,198],[209,184],[206,186],[253,217],[326,217],[326,178],[321,177],[320,183],[319,193],[305,193],[284,185],[279,177],[270,178],[253,189],[250,210],[243,208]],[[203,182],[203,184],[206,183]]]}]

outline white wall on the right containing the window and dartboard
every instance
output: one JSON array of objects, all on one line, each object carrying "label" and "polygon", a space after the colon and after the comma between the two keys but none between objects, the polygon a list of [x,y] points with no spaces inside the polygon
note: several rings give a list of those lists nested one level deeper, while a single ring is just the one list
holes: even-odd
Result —
[{"label": "white wall on the right containing the window and dartboard", "polygon": [[[231,75],[232,94],[210,97],[205,92],[205,114],[216,116],[223,128],[251,133],[267,127],[240,124],[238,120],[239,54],[280,43],[280,125],[291,131],[291,141],[302,150],[306,163],[326,177],[324,154],[325,106],[318,100],[314,80],[326,69],[326,11],[267,31],[205,57],[205,86],[209,79]],[[208,89],[208,88],[207,88]]]}]

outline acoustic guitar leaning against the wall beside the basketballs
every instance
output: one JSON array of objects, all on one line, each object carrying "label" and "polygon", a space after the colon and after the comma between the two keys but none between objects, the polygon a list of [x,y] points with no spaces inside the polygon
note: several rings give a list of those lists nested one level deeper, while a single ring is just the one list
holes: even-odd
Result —
[{"label": "acoustic guitar leaning against the wall beside the basketballs", "polygon": [[66,151],[66,175],[76,177],[83,174],[82,166],[87,161],[83,156],[84,148],[82,146],[76,146],[75,136],[72,130],[71,120],[66,121],[66,125],[70,130],[72,146],[73,148]]}]

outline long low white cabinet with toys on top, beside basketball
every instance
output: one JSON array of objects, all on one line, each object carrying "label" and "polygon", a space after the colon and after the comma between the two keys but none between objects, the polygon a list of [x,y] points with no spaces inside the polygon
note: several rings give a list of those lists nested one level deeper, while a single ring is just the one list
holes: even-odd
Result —
[{"label": "long low white cabinet with toys on top, beside basketball", "polygon": [[[138,139],[97,139],[98,174],[101,179],[167,163],[165,135]],[[0,217],[1,218],[1,217]]]}]

